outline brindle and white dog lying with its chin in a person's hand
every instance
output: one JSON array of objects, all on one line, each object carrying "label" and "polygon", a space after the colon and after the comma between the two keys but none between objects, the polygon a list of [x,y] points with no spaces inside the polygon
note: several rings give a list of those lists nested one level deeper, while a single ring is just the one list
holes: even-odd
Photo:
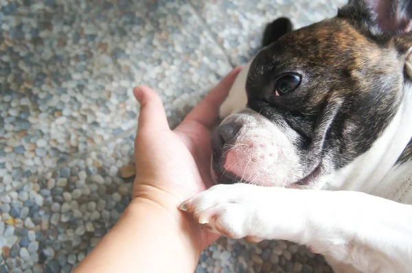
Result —
[{"label": "brindle and white dog lying with its chin in a person's hand", "polygon": [[412,1],[267,25],[220,108],[200,224],[284,239],[335,272],[412,272]]}]

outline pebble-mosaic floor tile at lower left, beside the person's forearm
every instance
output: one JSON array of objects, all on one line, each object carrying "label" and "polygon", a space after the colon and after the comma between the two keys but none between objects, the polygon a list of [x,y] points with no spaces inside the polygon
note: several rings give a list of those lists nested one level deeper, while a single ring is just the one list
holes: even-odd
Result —
[{"label": "pebble-mosaic floor tile at lower left, beside the person's forearm", "polygon": [[0,272],[70,272],[130,202],[132,158],[133,135],[3,195]]}]

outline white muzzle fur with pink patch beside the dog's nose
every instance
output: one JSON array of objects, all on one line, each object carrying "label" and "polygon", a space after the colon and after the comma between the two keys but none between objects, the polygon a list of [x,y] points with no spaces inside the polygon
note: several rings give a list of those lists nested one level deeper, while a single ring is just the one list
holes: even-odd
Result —
[{"label": "white muzzle fur with pink patch beside the dog's nose", "polygon": [[294,145],[297,132],[276,126],[252,110],[237,112],[223,122],[242,124],[225,160],[225,169],[238,174],[238,180],[286,187],[304,176]]}]

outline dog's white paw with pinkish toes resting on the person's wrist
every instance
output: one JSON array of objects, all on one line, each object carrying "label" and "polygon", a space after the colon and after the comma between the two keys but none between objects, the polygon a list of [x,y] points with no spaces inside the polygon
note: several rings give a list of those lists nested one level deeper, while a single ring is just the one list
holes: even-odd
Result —
[{"label": "dog's white paw with pinkish toes resting on the person's wrist", "polygon": [[216,185],[183,202],[182,211],[192,213],[200,224],[214,233],[233,239],[261,241],[253,234],[256,204],[255,185]]}]

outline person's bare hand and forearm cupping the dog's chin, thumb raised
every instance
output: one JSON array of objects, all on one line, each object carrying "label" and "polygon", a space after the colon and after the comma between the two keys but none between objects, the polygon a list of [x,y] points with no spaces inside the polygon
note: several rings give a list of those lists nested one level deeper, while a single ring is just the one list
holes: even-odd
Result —
[{"label": "person's bare hand and forearm cupping the dog's chin, thumb raised", "polygon": [[174,130],[155,91],[134,89],[141,108],[133,198],[73,272],[194,272],[201,252],[218,235],[178,208],[213,185],[210,130],[240,69],[233,69]]}]

